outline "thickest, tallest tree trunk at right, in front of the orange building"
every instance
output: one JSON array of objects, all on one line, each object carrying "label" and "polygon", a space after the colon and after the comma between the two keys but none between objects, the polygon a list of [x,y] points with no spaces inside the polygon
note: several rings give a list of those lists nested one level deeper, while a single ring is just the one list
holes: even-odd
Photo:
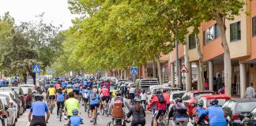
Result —
[{"label": "thickest, tallest tree trunk at right, in front of the orange building", "polygon": [[220,17],[220,13],[216,12],[216,22],[220,27],[220,35],[221,35],[221,45],[224,49],[224,84],[226,88],[226,95],[232,95],[232,61],[230,56],[230,51],[228,47],[228,42],[226,38],[226,26],[224,24],[224,20]]}]

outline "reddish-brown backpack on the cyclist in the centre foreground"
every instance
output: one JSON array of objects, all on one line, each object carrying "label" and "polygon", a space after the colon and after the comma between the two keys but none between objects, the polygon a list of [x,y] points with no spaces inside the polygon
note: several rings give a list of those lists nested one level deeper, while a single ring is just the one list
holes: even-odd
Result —
[{"label": "reddish-brown backpack on the cyclist in the centre foreground", "polygon": [[123,118],[123,107],[123,98],[116,97],[112,111],[112,115],[114,118]]}]

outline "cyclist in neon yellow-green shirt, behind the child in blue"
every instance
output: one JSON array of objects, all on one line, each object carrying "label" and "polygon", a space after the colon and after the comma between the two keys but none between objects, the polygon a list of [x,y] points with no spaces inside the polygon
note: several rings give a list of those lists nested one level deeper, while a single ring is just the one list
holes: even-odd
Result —
[{"label": "cyclist in neon yellow-green shirt, behind the child in blue", "polygon": [[69,98],[64,102],[65,113],[67,112],[68,118],[73,116],[72,110],[79,109],[79,102],[76,98],[73,98],[73,92],[70,92]]}]

